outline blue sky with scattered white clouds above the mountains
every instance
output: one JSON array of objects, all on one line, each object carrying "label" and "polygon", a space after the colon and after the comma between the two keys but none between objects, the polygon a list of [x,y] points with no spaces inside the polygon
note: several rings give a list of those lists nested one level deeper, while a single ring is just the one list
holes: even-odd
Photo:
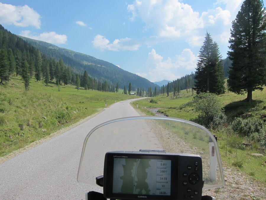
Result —
[{"label": "blue sky with scattered white clouds above the mountains", "polygon": [[231,22],[242,2],[0,0],[0,23],[152,82],[172,81],[195,71],[206,31],[226,58]]}]

